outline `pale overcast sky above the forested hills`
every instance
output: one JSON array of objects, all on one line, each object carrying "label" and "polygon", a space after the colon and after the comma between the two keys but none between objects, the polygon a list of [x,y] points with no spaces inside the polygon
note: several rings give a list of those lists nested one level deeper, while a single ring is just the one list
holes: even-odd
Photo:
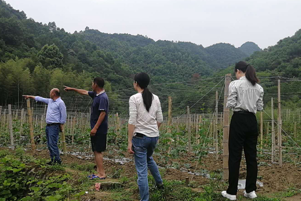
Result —
[{"label": "pale overcast sky above the forested hills", "polygon": [[301,29],[301,0],[6,0],[37,22],[65,31],[147,35],[204,47],[247,41],[275,45]]}]

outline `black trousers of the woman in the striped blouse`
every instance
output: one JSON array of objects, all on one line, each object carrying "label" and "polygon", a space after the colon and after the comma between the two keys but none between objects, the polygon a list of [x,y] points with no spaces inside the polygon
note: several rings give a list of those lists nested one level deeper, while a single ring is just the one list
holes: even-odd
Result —
[{"label": "black trousers of the woman in the striped blouse", "polygon": [[236,195],[239,167],[244,150],[247,163],[246,192],[256,190],[257,180],[257,120],[251,113],[234,113],[230,124],[229,134],[229,187],[227,193]]}]

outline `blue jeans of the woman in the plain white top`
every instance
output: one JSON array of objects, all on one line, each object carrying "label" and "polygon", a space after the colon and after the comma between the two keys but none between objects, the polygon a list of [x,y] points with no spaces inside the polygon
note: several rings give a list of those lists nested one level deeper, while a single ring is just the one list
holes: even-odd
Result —
[{"label": "blue jeans of the woman in the plain white top", "polygon": [[152,156],[158,140],[159,137],[149,138],[146,136],[143,136],[143,138],[135,136],[132,139],[141,201],[148,201],[149,199],[147,167],[157,184],[163,182],[158,166]]}]

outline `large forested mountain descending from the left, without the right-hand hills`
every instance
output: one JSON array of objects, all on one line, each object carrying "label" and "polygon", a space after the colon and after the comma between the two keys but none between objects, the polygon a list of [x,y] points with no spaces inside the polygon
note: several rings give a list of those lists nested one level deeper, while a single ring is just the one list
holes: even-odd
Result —
[{"label": "large forested mountain descending from the left, without the right-hand hills", "polygon": [[18,94],[19,101],[24,93],[47,96],[50,88],[63,84],[88,88],[90,83],[78,80],[94,76],[104,77],[112,94],[131,87],[133,74],[140,71],[149,73],[152,83],[187,81],[210,76],[230,60],[223,64],[202,45],[189,42],[106,34],[88,27],[70,34],[55,22],[28,19],[0,0],[1,105],[17,102]]}]

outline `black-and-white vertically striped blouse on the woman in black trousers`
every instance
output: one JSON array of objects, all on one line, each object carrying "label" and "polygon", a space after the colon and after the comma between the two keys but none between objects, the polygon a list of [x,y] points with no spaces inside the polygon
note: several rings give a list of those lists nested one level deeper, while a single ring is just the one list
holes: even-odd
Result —
[{"label": "black-and-white vertically striped blouse on the woman in black trousers", "polygon": [[232,111],[248,111],[256,114],[263,110],[263,88],[253,85],[245,76],[232,81],[229,85],[227,108]]}]

